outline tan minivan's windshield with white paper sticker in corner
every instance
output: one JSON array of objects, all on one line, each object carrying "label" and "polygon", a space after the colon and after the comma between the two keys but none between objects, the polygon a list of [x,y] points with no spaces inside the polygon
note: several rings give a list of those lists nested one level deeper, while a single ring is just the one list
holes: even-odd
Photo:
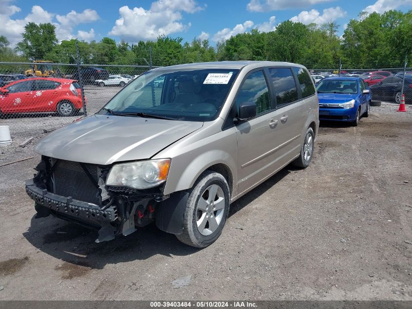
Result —
[{"label": "tan minivan's windshield with white paper sticker in corner", "polygon": [[157,69],[140,75],[99,114],[212,121],[235,80],[235,69]]}]

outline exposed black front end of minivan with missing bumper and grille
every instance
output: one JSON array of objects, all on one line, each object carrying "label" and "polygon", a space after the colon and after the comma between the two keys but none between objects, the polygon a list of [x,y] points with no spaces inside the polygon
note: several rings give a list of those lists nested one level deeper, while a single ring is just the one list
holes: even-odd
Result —
[{"label": "exposed black front end of minivan with missing bumper and grille", "polygon": [[50,214],[83,226],[98,228],[97,242],[128,235],[135,227],[155,220],[162,187],[137,190],[106,186],[111,166],[93,165],[42,156],[37,175],[26,181],[35,201],[36,218]]}]

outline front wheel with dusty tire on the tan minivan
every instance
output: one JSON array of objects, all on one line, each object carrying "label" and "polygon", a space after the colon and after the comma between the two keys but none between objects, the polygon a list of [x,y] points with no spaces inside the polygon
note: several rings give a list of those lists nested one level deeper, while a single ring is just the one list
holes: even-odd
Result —
[{"label": "front wheel with dusty tire on the tan minivan", "polygon": [[[209,196],[211,191],[216,192],[213,201]],[[186,245],[204,248],[216,241],[226,223],[230,205],[229,185],[221,174],[207,170],[188,192],[183,233],[176,237]]]}]

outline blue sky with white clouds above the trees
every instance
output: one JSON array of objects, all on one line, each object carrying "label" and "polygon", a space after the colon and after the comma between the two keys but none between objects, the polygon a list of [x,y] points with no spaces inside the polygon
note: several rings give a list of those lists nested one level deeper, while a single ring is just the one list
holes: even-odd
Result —
[{"label": "blue sky with white clouds above the trees", "polygon": [[78,39],[136,43],[158,35],[208,39],[212,45],[257,28],[271,31],[282,21],[335,21],[339,35],[359,12],[412,9],[412,0],[0,0],[0,35],[11,46],[24,25],[52,22],[59,41]]}]

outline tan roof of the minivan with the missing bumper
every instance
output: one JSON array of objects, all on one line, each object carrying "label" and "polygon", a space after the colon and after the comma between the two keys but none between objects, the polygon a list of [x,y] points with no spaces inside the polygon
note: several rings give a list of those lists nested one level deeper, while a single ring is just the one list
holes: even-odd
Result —
[{"label": "tan roof of the minivan with the missing bumper", "polygon": [[186,63],[177,64],[167,67],[160,67],[154,70],[161,69],[196,69],[196,68],[211,68],[211,69],[241,69],[245,66],[251,67],[261,67],[261,66],[297,66],[304,67],[301,64],[291,63],[291,62],[277,62],[277,61],[220,61],[220,62],[196,62],[196,63]]}]

